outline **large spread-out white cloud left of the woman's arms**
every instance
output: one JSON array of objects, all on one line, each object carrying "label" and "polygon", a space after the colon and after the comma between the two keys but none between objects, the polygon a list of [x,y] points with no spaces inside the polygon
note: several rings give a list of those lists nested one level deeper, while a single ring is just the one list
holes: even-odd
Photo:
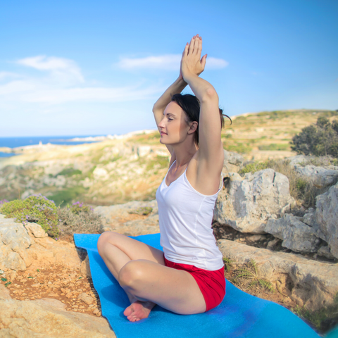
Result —
[{"label": "large spread-out white cloud left of the woman's arms", "polygon": [[0,72],[0,101],[2,104],[65,104],[68,102],[121,102],[153,98],[164,88],[144,86],[102,87],[87,84],[77,64],[65,58],[34,56],[16,61],[35,68],[41,74],[20,75]]}]

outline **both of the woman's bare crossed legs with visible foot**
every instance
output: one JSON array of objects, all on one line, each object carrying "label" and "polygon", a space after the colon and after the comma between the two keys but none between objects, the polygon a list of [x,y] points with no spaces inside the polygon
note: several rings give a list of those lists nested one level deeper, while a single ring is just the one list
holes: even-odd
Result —
[{"label": "both of the woman's bare crossed legs with visible foot", "polygon": [[97,247],[130,299],[124,312],[128,320],[148,317],[155,304],[180,314],[206,311],[194,277],[166,267],[161,250],[116,232],[101,234]]}]

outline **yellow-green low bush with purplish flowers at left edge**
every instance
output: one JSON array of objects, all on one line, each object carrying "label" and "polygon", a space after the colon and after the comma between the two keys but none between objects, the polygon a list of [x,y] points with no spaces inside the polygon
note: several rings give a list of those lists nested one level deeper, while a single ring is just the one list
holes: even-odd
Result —
[{"label": "yellow-green low bush with purplish flowers at left edge", "polygon": [[15,218],[23,225],[34,222],[42,226],[51,237],[58,237],[58,213],[54,201],[42,194],[32,195],[27,199],[15,199],[2,204],[0,212],[8,218]]}]

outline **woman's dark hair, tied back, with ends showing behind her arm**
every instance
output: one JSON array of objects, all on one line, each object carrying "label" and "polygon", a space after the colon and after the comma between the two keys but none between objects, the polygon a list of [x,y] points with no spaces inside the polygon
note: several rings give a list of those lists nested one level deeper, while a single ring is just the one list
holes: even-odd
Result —
[{"label": "woman's dark hair, tied back, with ends showing behind her arm", "polygon": [[[199,111],[201,110],[201,104],[199,103],[199,99],[196,96],[191,94],[174,94],[171,97],[171,101],[175,101],[187,114],[187,118],[189,122],[197,122],[199,123]],[[224,127],[224,116],[230,120],[232,120],[229,116],[223,114],[223,109],[220,109],[220,124],[221,128]],[[197,145],[199,145],[199,125],[197,125],[196,132],[194,134],[194,141]]]}]

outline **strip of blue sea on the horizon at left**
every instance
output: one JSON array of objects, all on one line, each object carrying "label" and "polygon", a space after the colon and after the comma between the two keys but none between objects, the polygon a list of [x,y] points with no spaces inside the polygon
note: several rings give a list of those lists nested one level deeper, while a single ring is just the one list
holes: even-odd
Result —
[{"label": "strip of blue sea on the horizon at left", "polygon": [[[2,146],[7,146],[8,148],[17,148],[18,146],[33,146],[35,144],[63,144],[68,146],[74,146],[75,144],[84,144],[84,143],[93,143],[95,141],[86,141],[86,140],[77,140],[70,141],[70,139],[74,139],[75,137],[79,137],[80,139],[84,139],[85,137],[93,137],[95,135],[75,135],[75,136],[34,136],[34,137],[0,137],[0,148]],[[15,156],[17,154],[8,154],[0,151],[0,157],[10,157]]]}]

